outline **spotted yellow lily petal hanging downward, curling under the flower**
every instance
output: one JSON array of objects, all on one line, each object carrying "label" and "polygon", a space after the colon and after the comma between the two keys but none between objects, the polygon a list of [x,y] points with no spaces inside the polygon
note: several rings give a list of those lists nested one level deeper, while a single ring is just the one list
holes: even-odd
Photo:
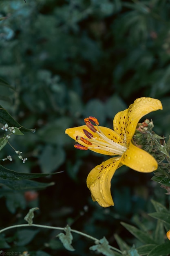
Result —
[{"label": "spotted yellow lily petal hanging downward, curling under the flower", "polygon": [[102,207],[114,205],[111,193],[111,179],[117,168],[122,166],[121,157],[112,157],[102,164],[97,165],[87,177],[87,186],[91,191],[93,201],[97,201]]}]

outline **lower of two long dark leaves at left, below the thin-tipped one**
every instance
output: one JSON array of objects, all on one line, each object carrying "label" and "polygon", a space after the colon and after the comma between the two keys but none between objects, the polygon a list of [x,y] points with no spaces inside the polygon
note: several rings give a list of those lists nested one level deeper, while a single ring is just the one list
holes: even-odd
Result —
[{"label": "lower of two long dark leaves at left, below the thin-tipped one", "polygon": [[10,189],[14,190],[38,190],[38,189],[45,189],[48,186],[53,186],[54,182],[51,183],[42,183],[36,182],[33,180],[2,180],[0,179],[0,184],[9,187]]}]

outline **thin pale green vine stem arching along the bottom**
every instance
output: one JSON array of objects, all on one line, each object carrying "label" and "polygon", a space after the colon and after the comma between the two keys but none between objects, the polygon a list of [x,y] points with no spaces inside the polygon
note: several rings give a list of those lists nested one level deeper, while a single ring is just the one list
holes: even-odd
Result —
[{"label": "thin pale green vine stem arching along the bottom", "polygon": [[[57,230],[65,231],[65,228],[64,228],[64,227],[51,227],[51,226],[39,225],[39,224],[31,224],[31,225],[29,225],[29,224],[19,224],[19,225],[13,225],[13,226],[10,226],[10,227],[5,227],[4,229],[1,229],[1,230],[0,230],[0,233],[6,231],[6,230],[8,230],[8,229],[14,229],[14,228],[17,228],[17,227],[30,227],[30,226],[33,226],[33,227],[41,227],[41,228],[46,228],[46,229],[57,229]],[[71,229],[70,231],[73,232],[73,233],[77,233],[77,234],[79,234],[79,235],[81,235],[81,236],[85,236],[85,237],[87,237],[87,238],[89,238],[89,239],[91,239],[91,240],[94,240],[96,243],[100,243],[100,240],[98,240],[97,238],[95,238],[95,237],[93,237],[93,236],[89,236],[88,234],[85,234],[85,233],[83,233],[83,232],[80,232],[80,231],[78,231],[78,230],[76,230],[76,229]],[[117,252],[119,252],[120,254],[122,254],[122,252],[121,252],[119,249],[117,249],[117,248],[115,248],[115,247],[113,247],[113,246],[110,246],[110,249],[113,249],[114,251],[117,251]]]}]

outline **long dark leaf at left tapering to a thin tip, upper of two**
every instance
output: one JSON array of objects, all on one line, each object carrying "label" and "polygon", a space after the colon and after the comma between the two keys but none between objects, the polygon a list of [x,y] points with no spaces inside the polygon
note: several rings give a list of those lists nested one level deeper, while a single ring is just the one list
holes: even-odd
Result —
[{"label": "long dark leaf at left tapering to a thin tip, upper of two", "polygon": [[[60,173],[60,172],[58,172]],[[56,173],[18,173],[13,170],[9,170],[0,165],[0,177],[1,179],[8,180],[29,180],[40,177],[46,177],[48,175],[54,175]]]}]

